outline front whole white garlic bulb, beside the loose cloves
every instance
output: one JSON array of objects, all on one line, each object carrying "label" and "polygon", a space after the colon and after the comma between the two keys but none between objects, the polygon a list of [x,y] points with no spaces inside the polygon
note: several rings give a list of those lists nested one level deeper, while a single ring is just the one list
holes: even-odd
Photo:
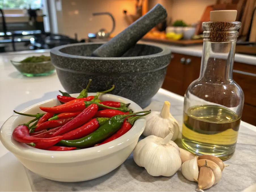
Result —
[{"label": "front whole white garlic bulb, beside the loose cloves", "polygon": [[173,134],[170,128],[165,138],[150,135],[140,140],[133,152],[135,163],[152,176],[175,174],[181,167],[181,158],[179,147],[171,141]]}]

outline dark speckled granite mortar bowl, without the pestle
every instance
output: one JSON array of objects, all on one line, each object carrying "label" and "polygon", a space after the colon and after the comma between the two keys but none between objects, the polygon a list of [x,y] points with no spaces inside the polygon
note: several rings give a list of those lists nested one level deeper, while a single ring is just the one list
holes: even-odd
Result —
[{"label": "dark speckled granite mortar bowl, without the pestle", "polygon": [[68,93],[79,93],[92,79],[90,92],[104,91],[126,97],[141,107],[161,87],[171,60],[165,46],[136,44],[122,57],[90,57],[99,43],[71,44],[51,50],[52,64]]}]

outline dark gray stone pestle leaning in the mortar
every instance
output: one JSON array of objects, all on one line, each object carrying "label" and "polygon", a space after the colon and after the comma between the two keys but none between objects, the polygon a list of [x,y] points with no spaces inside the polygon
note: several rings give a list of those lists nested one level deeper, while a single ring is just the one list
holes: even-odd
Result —
[{"label": "dark gray stone pestle leaning in the mortar", "polygon": [[167,17],[166,9],[157,4],[147,14],[136,20],[121,33],[101,45],[92,53],[93,57],[121,57],[147,32]]}]

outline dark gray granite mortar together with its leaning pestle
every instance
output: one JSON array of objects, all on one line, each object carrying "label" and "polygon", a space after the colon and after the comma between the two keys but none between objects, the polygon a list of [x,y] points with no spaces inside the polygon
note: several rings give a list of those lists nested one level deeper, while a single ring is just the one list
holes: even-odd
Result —
[{"label": "dark gray granite mortar together with its leaning pestle", "polygon": [[[157,4],[147,14],[106,43],[77,43],[50,51],[58,78],[68,93],[79,93],[92,79],[90,92],[115,89],[142,108],[162,86],[171,51],[166,46],[137,43],[167,17]],[[137,43],[137,44],[136,44]]]}]

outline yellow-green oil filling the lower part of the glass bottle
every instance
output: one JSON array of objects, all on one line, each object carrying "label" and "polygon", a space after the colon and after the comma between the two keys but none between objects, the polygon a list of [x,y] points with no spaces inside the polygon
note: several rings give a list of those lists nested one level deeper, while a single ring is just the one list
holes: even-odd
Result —
[{"label": "yellow-green oil filling the lower part of the glass bottle", "polygon": [[192,106],[183,112],[182,144],[194,154],[229,159],[236,146],[241,117],[217,105]]}]

